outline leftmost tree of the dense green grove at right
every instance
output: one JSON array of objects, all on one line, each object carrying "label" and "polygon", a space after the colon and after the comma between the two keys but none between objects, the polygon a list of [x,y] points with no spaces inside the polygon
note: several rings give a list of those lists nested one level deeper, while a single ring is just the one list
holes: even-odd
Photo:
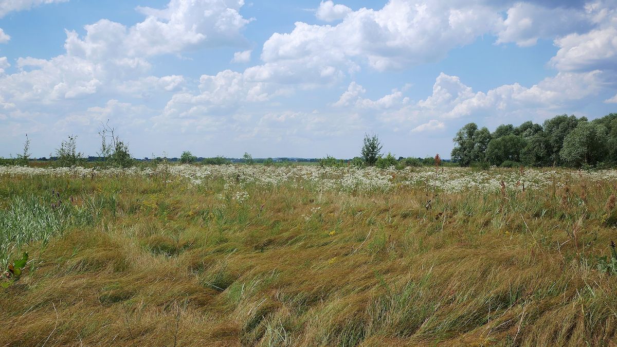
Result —
[{"label": "leftmost tree of the dense green grove at right", "polygon": [[491,132],[486,127],[478,129],[476,123],[468,123],[452,139],[456,143],[452,149],[452,159],[461,166],[471,162],[484,161],[486,148],[491,141]]}]

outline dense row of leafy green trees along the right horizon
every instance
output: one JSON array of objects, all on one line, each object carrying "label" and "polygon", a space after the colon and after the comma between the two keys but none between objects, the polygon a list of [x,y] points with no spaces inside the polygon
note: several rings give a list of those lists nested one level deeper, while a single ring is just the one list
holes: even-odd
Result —
[{"label": "dense row of leafy green trees along the right horizon", "polygon": [[617,165],[617,114],[587,120],[557,115],[542,125],[503,124],[489,132],[468,123],[453,138],[452,160],[461,166],[520,165],[614,167]]}]

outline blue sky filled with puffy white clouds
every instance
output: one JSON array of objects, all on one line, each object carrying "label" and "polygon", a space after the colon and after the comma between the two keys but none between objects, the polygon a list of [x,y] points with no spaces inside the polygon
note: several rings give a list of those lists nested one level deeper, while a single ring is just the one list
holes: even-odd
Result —
[{"label": "blue sky filled with puffy white clouds", "polygon": [[617,0],[0,0],[0,156],[450,157],[617,112]]}]

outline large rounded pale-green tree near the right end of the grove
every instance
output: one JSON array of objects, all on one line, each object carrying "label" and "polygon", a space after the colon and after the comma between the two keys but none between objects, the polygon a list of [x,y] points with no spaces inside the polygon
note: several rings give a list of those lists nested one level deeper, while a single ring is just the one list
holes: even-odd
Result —
[{"label": "large rounded pale-green tree near the right end of the grove", "polygon": [[580,122],[563,140],[560,159],[575,167],[595,165],[607,156],[607,141],[608,130],[604,125]]}]

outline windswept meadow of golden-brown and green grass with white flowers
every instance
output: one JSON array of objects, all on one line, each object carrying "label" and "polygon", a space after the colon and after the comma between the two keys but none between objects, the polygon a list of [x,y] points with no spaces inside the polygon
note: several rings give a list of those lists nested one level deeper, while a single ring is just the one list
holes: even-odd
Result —
[{"label": "windswept meadow of golden-brown and green grass with white flowers", "polygon": [[616,346],[617,171],[0,167],[2,346]]}]

